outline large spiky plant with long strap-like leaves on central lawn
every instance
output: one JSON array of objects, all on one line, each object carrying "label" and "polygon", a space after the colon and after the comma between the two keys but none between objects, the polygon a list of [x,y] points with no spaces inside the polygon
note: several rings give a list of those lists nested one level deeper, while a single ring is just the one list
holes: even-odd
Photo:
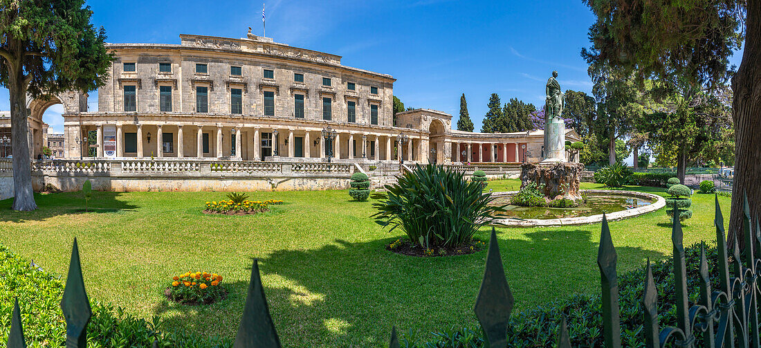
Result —
[{"label": "large spiky plant with long strap-like leaves on central lawn", "polygon": [[392,226],[392,231],[402,228],[413,244],[426,249],[466,244],[505,211],[490,205],[495,199],[482,192],[480,181],[465,180],[443,166],[416,165],[386,190],[373,197],[379,200],[373,204],[377,223]]}]

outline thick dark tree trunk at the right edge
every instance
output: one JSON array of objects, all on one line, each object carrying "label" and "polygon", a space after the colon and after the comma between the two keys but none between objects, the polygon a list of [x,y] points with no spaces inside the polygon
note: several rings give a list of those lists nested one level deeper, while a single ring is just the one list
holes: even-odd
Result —
[{"label": "thick dark tree trunk at the right edge", "polygon": [[747,2],[747,31],[743,60],[732,79],[732,118],[735,129],[734,185],[727,238],[743,248],[743,197],[750,218],[761,218],[761,0]]}]

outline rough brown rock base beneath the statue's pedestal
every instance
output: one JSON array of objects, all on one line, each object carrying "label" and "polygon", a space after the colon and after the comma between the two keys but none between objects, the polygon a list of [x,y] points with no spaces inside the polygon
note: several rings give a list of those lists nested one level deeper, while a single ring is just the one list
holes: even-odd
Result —
[{"label": "rough brown rock base beneath the statue's pedestal", "polygon": [[549,200],[568,198],[581,200],[578,184],[581,182],[581,163],[524,163],[521,164],[521,188],[528,183],[544,184],[543,193]]}]

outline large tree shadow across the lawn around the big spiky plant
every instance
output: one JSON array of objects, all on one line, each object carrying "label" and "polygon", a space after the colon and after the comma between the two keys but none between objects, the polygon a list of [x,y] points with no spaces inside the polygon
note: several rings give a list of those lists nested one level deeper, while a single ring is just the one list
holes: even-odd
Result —
[{"label": "large tree shadow across the lawn around the big spiky plant", "polygon": [[[592,231],[597,230],[593,228]],[[503,229],[505,273],[514,313],[575,292],[600,292],[598,244],[583,229]],[[488,231],[479,231],[481,240]],[[596,238],[595,238],[596,239]],[[615,241],[614,237],[614,241]],[[486,251],[448,257],[408,257],[385,250],[396,237],[334,240],[312,250],[274,251],[260,259],[270,314],[284,346],[386,346],[391,327],[431,339],[431,331],[475,324],[473,304]],[[664,257],[641,247],[617,247],[619,272]],[[253,262],[253,260],[252,260]],[[167,327],[218,332],[232,339],[248,283],[228,284],[230,297],[208,308],[154,308]]]}]

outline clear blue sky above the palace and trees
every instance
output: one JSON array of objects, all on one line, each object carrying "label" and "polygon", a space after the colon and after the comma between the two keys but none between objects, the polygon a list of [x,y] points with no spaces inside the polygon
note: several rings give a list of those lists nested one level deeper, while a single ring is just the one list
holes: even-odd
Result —
[{"label": "clear blue sky above the palace and trees", "polygon": [[[558,70],[563,90],[591,93],[587,28],[594,16],[581,0],[552,1],[287,1],[266,0],[266,34],[275,42],[343,56],[344,65],[397,79],[394,94],[408,107],[453,115],[460,94],[478,131],[489,95],[541,107],[544,85]],[[262,34],[258,2],[88,1],[93,23],[110,43],[180,43],[180,34]],[[740,56],[733,59],[739,64]],[[97,92],[90,94],[97,110]],[[0,110],[8,91],[0,88]],[[43,119],[62,132],[62,107]]]}]

